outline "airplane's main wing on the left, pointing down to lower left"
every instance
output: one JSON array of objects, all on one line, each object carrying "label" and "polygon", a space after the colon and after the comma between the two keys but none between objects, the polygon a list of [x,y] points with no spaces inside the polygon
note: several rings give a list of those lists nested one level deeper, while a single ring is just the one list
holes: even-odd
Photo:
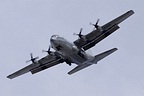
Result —
[{"label": "airplane's main wing on the left, pointing down to lower left", "polygon": [[13,78],[23,75],[27,72],[31,72],[32,74],[35,74],[35,73],[45,70],[49,67],[57,65],[61,61],[62,61],[61,57],[56,57],[54,55],[47,55],[46,57],[38,60],[38,62],[36,62],[34,64],[30,64],[30,65],[26,66],[25,68],[22,68],[21,70],[7,76],[7,78],[13,79]]}]

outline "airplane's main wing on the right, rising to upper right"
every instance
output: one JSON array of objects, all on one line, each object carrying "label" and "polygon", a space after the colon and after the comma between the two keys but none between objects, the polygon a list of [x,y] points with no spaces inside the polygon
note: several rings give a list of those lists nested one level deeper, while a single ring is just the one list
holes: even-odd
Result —
[{"label": "airplane's main wing on the right, rising to upper right", "polygon": [[74,41],[74,44],[78,48],[83,48],[88,50],[89,48],[95,46],[98,42],[109,36],[111,33],[119,29],[118,24],[134,14],[133,10],[130,10],[123,15],[117,17],[116,19],[108,22],[107,24],[101,26],[101,30],[94,30],[87,35],[84,35],[82,38]]}]

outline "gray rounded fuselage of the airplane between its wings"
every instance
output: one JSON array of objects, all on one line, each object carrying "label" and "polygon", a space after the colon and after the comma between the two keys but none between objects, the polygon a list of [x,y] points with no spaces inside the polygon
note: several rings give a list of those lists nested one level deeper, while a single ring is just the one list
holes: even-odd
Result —
[{"label": "gray rounded fuselage of the airplane between its wings", "polygon": [[53,35],[50,42],[52,48],[56,50],[56,52],[58,52],[62,58],[70,61],[71,63],[81,65],[92,58],[92,56],[86,54],[85,51],[78,49],[73,43],[70,43],[58,35]]}]

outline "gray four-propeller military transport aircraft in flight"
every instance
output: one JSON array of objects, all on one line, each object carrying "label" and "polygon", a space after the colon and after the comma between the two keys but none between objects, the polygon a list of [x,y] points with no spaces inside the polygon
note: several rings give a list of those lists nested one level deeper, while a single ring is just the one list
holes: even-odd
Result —
[{"label": "gray four-propeller military transport aircraft in flight", "polygon": [[95,56],[89,55],[86,50],[95,46],[98,42],[119,29],[120,27],[118,24],[127,19],[132,14],[134,14],[134,11],[130,10],[103,26],[98,25],[98,19],[95,24],[91,24],[95,28],[92,32],[82,35],[81,29],[79,34],[76,34],[79,36],[79,38],[73,43],[68,42],[66,39],[58,35],[52,35],[50,38],[50,46],[55,50],[55,52],[51,51],[51,47],[49,47],[48,50],[43,50],[43,52],[47,52],[48,55],[39,60],[37,60],[38,57],[34,58],[33,55],[30,54],[31,60],[29,61],[31,61],[32,64],[7,76],[7,78],[13,79],[27,72],[35,74],[63,62],[66,62],[68,65],[71,65],[72,63],[77,65],[74,69],[68,72],[69,75],[93,64],[97,64],[98,61],[115,52],[117,48],[110,49]]}]

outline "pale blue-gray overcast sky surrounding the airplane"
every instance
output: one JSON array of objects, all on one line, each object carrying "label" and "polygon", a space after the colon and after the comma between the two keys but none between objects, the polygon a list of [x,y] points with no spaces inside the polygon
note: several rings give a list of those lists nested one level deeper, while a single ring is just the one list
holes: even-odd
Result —
[{"label": "pale blue-gray overcast sky surrounding the airplane", "polygon": [[[144,1],[142,0],[0,0],[0,96],[144,96]],[[118,51],[73,75],[67,64],[27,73],[13,80],[7,75],[29,65],[29,54],[40,58],[58,34],[73,42],[128,10],[135,14],[120,29],[91,49],[94,55]]]}]

